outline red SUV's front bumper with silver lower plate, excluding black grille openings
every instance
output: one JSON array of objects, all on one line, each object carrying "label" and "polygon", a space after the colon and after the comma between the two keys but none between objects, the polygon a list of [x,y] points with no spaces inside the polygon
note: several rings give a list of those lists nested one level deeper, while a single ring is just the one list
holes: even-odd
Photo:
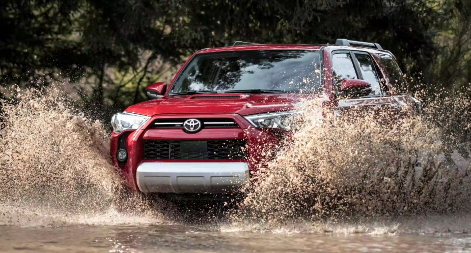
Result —
[{"label": "red SUV's front bumper with silver lower plate, excluding black grille openings", "polygon": [[[231,118],[237,122],[239,128],[203,129],[198,133],[192,134],[186,133],[181,129],[152,128],[153,121],[156,119],[192,117]],[[238,180],[242,178],[242,174],[245,181],[250,178],[248,171],[250,171],[250,175],[252,175],[257,172],[258,168],[265,167],[266,162],[272,159],[271,151],[276,149],[281,139],[278,134],[274,134],[272,131],[251,127],[248,121],[237,114],[162,114],[153,116],[138,130],[129,130],[121,133],[113,132],[110,141],[110,154],[115,166],[123,172],[126,185],[136,191],[179,194],[220,193],[228,188],[226,184],[243,184]],[[247,159],[146,159],[144,155],[145,142],[155,140],[246,140],[248,143]],[[124,163],[119,163],[116,159],[119,145],[121,145],[122,148],[123,145],[125,145],[128,151],[128,159]],[[178,172],[176,170],[178,170]],[[186,178],[185,176],[187,175],[191,178]],[[222,178],[224,182],[216,182],[217,177],[229,175],[239,176]],[[190,180],[191,183],[189,183],[189,185],[195,186],[186,187],[186,184],[182,183],[185,180]],[[197,186],[198,184],[195,183],[195,181],[203,182],[199,184],[203,186]],[[159,186],[161,182],[162,184]]]}]

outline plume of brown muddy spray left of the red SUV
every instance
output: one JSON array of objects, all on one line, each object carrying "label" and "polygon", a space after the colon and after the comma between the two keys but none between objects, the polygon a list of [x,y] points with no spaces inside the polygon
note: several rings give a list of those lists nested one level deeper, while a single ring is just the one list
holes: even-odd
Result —
[{"label": "plume of brown muddy spray left of the red SUV", "polygon": [[98,121],[72,111],[59,89],[18,92],[2,103],[0,225],[158,223],[127,191]]}]

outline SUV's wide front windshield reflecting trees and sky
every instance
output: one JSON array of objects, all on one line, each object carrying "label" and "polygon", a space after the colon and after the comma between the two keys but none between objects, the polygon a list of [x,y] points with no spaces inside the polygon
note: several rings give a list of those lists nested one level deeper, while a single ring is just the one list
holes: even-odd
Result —
[{"label": "SUV's wide front windshield reflecting trees and sky", "polygon": [[257,50],[206,53],[193,57],[169,95],[190,91],[323,91],[319,51]]}]

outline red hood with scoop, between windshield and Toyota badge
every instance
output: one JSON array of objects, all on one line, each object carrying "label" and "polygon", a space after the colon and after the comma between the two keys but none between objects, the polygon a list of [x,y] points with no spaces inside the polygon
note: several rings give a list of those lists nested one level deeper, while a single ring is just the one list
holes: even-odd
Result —
[{"label": "red hood with scoop, between windshield and Toyota badge", "polygon": [[307,98],[301,94],[209,93],[167,96],[128,107],[125,111],[147,116],[173,113],[237,113],[242,116],[287,111]]}]

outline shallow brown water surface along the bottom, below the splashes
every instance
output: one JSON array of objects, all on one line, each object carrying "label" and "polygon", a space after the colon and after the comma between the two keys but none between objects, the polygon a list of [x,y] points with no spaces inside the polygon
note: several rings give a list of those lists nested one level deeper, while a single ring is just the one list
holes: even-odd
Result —
[{"label": "shallow brown water surface along the bottom, below the splashes", "polygon": [[185,225],[0,227],[1,252],[471,252],[471,235],[243,232]]}]

